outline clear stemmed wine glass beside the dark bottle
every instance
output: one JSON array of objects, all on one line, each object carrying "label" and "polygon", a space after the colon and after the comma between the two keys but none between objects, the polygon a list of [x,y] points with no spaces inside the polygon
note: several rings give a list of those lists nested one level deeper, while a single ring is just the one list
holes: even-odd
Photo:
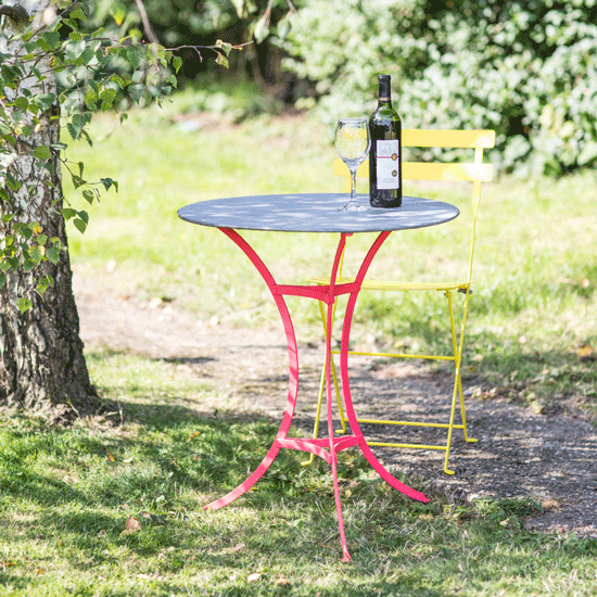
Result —
[{"label": "clear stemmed wine glass beside the dark bottle", "polygon": [[355,196],[356,170],[371,147],[369,124],[366,118],[340,118],[335,127],[335,149],[351,170],[351,201],[342,207],[351,212],[365,209]]}]

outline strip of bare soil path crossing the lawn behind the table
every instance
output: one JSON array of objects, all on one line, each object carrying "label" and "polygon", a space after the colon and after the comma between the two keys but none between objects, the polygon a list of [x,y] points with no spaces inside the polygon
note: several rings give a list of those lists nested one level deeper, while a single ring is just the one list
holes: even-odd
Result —
[{"label": "strip of bare soil path crossing the lawn behind the table", "polygon": [[[281,326],[264,330],[209,327],[189,313],[155,298],[141,303],[106,290],[105,280],[75,276],[81,336],[88,348],[105,346],[163,359],[198,382],[217,390],[217,403],[198,404],[198,411],[218,408],[261,410],[281,420],[288,392],[288,348]],[[313,429],[322,350],[298,348],[301,385],[296,425]],[[372,368],[351,360],[351,393],[364,418],[447,419],[452,396],[448,376],[393,361]],[[528,529],[597,536],[597,428],[568,414],[543,415],[505,401],[480,399],[465,388],[469,433],[455,431],[450,468],[444,453],[390,447],[373,452],[394,473],[424,480],[455,503],[480,496],[531,497],[545,511]],[[322,429],[326,429],[323,427]],[[363,425],[371,440],[442,442],[429,429]],[[265,450],[264,446],[264,450]],[[265,454],[265,452],[264,452]]]}]

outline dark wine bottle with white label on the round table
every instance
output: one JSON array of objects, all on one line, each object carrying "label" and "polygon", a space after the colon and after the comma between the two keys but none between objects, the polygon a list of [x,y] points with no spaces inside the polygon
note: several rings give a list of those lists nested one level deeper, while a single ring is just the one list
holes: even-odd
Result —
[{"label": "dark wine bottle with white label on the round table", "polygon": [[390,75],[379,75],[378,107],[369,118],[369,203],[402,205],[402,122],[392,109]]}]

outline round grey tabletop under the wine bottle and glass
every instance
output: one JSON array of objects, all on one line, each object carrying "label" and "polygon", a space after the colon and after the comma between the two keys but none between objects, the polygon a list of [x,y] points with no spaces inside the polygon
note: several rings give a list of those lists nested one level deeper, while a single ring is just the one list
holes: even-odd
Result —
[{"label": "round grey tabletop under the wine bottle and glass", "polygon": [[237,230],[282,232],[381,232],[423,228],[449,221],[459,211],[449,203],[404,196],[401,207],[369,205],[369,196],[357,195],[365,209],[342,209],[346,193],[288,193],[213,199],[178,211],[183,220],[202,226]]}]

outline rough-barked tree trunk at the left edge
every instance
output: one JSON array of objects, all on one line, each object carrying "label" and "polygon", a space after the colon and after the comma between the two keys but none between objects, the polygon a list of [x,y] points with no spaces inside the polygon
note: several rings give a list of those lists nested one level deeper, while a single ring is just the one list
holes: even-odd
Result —
[{"label": "rough-barked tree trunk at the left edge", "polygon": [[[43,13],[49,1],[23,0],[22,5],[30,15],[36,15]],[[9,27],[18,27],[18,23],[5,16],[3,31]],[[18,41],[1,49],[12,52],[15,60],[22,51]],[[17,148],[21,145],[30,152],[36,147],[59,142],[60,120],[56,116],[60,107],[52,75],[41,82],[31,77],[29,89],[35,93],[54,93],[56,98],[53,107],[40,116],[41,126],[26,139],[17,139]],[[16,221],[36,221],[43,234],[60,239],[66,247],[58,154],[53,153],[50,158],[53,174],[30,153],[15,152],[13,157],[11,174],[22,186],[17,191],[8,189],[8,205],[0,201],[0,211],[15,214],[12,221],[0,221],[0,239],[13,231]],[[53,278],[53,284],[40,296],[33,289],[46,275]],[[0,404],[41,411],[50,419],[72,418],[97,410],[99,398],[90,383],[82,354],[72,281],[67,251],[61,252],[56,265],[47,261],[30,271],[21,268],[7,272],[7,282],[0,290]],[[21,313],[17,306],[23,295],[33,302],[25,313]]]}]

